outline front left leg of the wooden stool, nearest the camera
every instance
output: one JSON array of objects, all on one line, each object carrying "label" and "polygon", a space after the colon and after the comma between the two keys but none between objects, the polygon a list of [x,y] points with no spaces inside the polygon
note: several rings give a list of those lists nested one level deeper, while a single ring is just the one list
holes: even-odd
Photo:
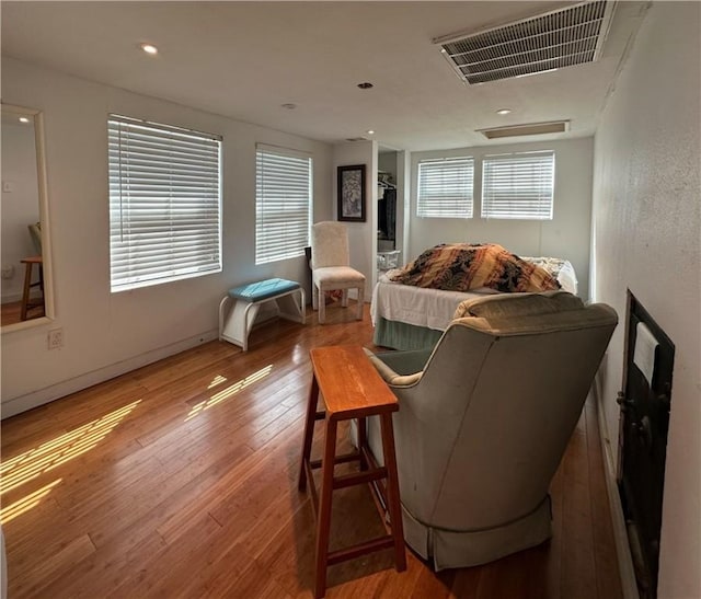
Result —
[{"label": "front left leg of the wooden stool, nearest the camera", "polygon": [[331,499],[333,495],[333,472],[336,457],[336,426],[333,418],[326,419],[324,435],[324,457],[321,462],[321,497],[317,525],[317,579],[314,597],[319,599],[326,591],[326,566],[329,562],[329,535],[331,533]]}]

